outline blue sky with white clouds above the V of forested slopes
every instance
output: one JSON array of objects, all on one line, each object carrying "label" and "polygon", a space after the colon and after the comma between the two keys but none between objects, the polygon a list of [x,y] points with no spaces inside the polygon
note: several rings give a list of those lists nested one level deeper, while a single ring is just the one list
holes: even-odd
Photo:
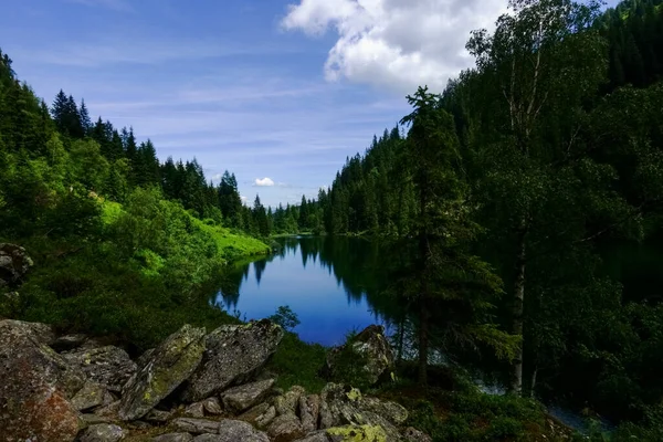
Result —
[{"label": "blue sky with white clouds above the V of forested slopes", "polygon": [[228,169],[271,206],[316,196],[408,112],[404,95],[470,66],[469,32],[506,3],[2,1],[0,48],[39,96],[83,97],[160,159]]}]

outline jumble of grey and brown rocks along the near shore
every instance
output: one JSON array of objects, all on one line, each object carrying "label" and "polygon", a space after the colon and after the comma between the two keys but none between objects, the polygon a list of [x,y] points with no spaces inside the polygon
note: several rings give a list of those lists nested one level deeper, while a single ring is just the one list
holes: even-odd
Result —
[{"label": "jumble of grey and brown rocks along the near shore", "polygon": [[[275,388],[264,366],[283,334],[269,320],[211,333],[185,325],[133,360],[83,335],[0,320],[0,441],[430,440],[403,427],[403,407],[350,386]],[[366,370],[376,381],[388,376],[392,359],[380,327],[360,335]]]}]

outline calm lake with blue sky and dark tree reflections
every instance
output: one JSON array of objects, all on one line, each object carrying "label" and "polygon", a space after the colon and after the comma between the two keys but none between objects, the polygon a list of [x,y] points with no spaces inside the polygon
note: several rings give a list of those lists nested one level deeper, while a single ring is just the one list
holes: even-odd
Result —
[{"label": "calm lake with blue sky and dark tree reflections", "polygon": [[378,290],[369,260],[377,256],[377,245],[351,238],[278,241],[283,248],[276,254],[228,272],[217,305],[246,319],[287,305],[301,320],[295,328],[299,338],[325,346],[343,344],[348,332],[370,324],[387,325],[368,294],[372,298]]}]

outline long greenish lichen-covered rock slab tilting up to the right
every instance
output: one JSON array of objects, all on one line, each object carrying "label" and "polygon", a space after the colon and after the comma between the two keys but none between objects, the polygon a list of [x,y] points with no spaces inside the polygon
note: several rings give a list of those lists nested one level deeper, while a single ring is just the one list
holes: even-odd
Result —
[{"label": "long greenish lichen-covered rock slab tilting up to the right", "polygon": [[196,370],[202,359],[204,328],[185,325],[154,351],[123,389],[118,415],[136,420],[151,410]]}]

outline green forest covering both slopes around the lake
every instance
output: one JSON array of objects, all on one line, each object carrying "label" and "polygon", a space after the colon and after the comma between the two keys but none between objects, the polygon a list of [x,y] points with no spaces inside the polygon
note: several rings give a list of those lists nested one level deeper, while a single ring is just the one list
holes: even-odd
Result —
[{"label": "green forest covering both slopes around the lake", "polygon": [[35,261],[20,292],[0,288],[0,317],[139,352],[182,323],[236,320],[201,293],[271,236],[366,235],[390,251],[370,296],[411,314],[420,388],[432,349],[471,351],[514,397],[663,440],[660,288],[627,292],[606,265],[622,244],[663,251],[662,1],[513,0],[466,49],[475,67],[422,85],[317,199],[277,208],[243,204],[230,171],[214,185],[196,159],[160,162],[83,99],[46,104],[0,52],[0,241]]}]

